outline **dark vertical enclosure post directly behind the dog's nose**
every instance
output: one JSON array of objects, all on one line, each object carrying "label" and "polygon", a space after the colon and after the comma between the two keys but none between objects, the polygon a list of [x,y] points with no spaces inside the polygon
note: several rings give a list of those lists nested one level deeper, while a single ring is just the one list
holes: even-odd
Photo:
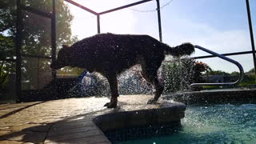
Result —
[{"label": "dark vertical enclosure post directly behind the dog's nose", "polygon": [[[51,61],[52,63],[56,62],[56,3],[53,2],[53,11],[51,15]],[[52,69],[51,71],[52,78],[56,78],[56,70]]]}]

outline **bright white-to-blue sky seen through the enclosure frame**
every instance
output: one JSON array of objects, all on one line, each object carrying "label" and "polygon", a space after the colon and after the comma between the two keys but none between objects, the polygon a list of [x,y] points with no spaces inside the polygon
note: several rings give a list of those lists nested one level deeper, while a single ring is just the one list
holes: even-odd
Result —
[{"label": "bright white-to-blue sky seen through the enclosure frame", "polygon": [[[96,12],[138,1],[74,0]],[[77,35],[78,39],[97,34],[96,16],[71,4],[68,5],[71,14],[74,15],[72,34]],[[191,42],[219,54],[251,50],[245,0],[160,0],[160,6],[162,6],[162,39],[170,46]],[[125,10],[103,14],[100,18],[101,33],[149,34],[159,39],[155,9],[156,1],[153,0]],[[254,0],[250,0],[250,11],[255,35],[256,2]],[[202,55],[209,54],[196,50],[192,56]],[[252,54],[230,56],[230,58],[240,62],[245,71],[254,66]],[[206,62],[213,70],[238,71],[236,66],[220,58],[198,59],[198,61]]]}]

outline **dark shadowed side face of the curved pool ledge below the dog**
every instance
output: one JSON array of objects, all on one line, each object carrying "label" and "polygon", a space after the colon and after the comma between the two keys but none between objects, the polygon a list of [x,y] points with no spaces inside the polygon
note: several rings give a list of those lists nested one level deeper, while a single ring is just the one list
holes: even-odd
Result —
[{"label": "dark shadowed side face of the curved pool ledge below the dog", "polygon": [[[160,108],[148,109],[148,110],[131,110],[121,111],[109,114],[102,114],[93,118],[93,122],[98,129],[102,131],[102,134],[108,138],[110,142],[114,142],[114,138],[110,138],[111,134],[117,135],[116,130],[129,131],[129,133],[137,132],[142,127],[150,127],[154,130],[163,130],[163,127],[173,129],[174,127],[181,126],[181,119],[185,117],[186,105],[180,102],[173,102],[167,105],[163,104]],[[162,127],[160,129],[155,127]],[[151,130],[152,131],[152,130]],[[170,131],[170,130],[167,130]],[[109,133],[110,132],[110,133]],[[125,132],[125,133],[126,133]],[[166,133],[162,132],[162,133]],[[167,132],[168,133],[168,132]],[[112,135],[113,135],[112,134]],[[118,134],[120,134],[118,132]],[[124,134],[122,134],[123,136]],[[129,134],[133,135],[133,134]],[[136,137],[141,138],[137,134]],[[144,137],[150,137],[152,135],[142,134]],[[159,135],[159,134],[158,134]],[[127,134],[126,136],[127,137]],[[127,140],[129,138],[123,139]],[[118,140],[118,141],[122,141]]]}]

